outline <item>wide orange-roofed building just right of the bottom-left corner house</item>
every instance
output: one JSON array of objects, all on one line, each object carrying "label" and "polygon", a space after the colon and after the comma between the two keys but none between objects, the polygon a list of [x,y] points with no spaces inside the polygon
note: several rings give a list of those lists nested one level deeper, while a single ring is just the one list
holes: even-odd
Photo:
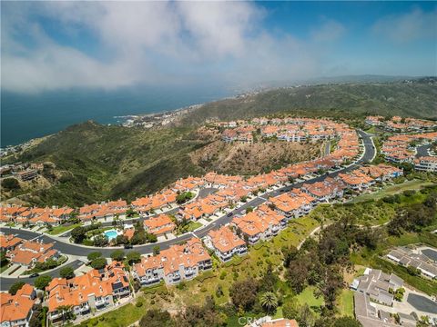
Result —
[{"label": "wide orange-roofed building just right of the bottom-left corner house", "polygon": [[72,279],[55,278],[46,287],[48,319],[60,322],[60,307],[70,307],[76,316],[114,306],[115,299],[130,295],[129,276],[123,263],[113,262]]}]

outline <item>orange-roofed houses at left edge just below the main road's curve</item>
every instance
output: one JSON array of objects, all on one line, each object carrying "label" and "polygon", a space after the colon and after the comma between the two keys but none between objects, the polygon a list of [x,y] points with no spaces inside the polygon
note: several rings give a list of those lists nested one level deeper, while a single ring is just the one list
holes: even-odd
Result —
[{"label": "orange-roofed houses at left edge just below the main road's curve", "polygon": [[59,259],[61,253],[54,249],[54,243],[42,241],[25,241],[14,235],[0,234],[2,251],[11,263],[31,269],[36,263],[45,263],[47,260]]}]

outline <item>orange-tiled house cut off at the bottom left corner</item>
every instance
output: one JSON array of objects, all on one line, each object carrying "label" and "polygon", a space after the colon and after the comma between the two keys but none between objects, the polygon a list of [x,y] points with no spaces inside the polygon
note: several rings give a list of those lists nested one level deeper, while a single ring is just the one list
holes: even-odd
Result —
[{"label": "orange-tiled house cut off at the bottom left corner", "polygon": [[32,307],[35,304],[34,287],[25,284],[15,295],[0,292],[0,323],[2,327],[25,327],[32,317]]}]

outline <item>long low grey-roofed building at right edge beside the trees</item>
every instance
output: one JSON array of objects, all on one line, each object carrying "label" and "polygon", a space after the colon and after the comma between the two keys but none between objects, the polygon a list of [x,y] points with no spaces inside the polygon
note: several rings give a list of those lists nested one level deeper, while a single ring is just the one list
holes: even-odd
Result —
[{"label": "long low grey-roofed building at right edge beside the trees", "polygon": [[388,253],[387,258],[404,267],[412,267],[427,278],[437,278],[437,263],[422,253],[415,253],[405,247],[398,247]]}]

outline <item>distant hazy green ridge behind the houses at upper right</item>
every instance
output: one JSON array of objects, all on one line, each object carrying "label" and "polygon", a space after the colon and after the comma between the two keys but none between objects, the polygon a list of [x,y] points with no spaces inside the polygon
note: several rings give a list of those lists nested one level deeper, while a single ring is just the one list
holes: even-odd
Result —
[{"label": "distant hazy green ridge behind the houses at upper right", "polygon": [[352,118],[382,114],[437,119],[435,78],[373,84],[320,84],[279,88],[205,104],[183,124],[208,119],[239,119],[266,114],[305,114]]}]

